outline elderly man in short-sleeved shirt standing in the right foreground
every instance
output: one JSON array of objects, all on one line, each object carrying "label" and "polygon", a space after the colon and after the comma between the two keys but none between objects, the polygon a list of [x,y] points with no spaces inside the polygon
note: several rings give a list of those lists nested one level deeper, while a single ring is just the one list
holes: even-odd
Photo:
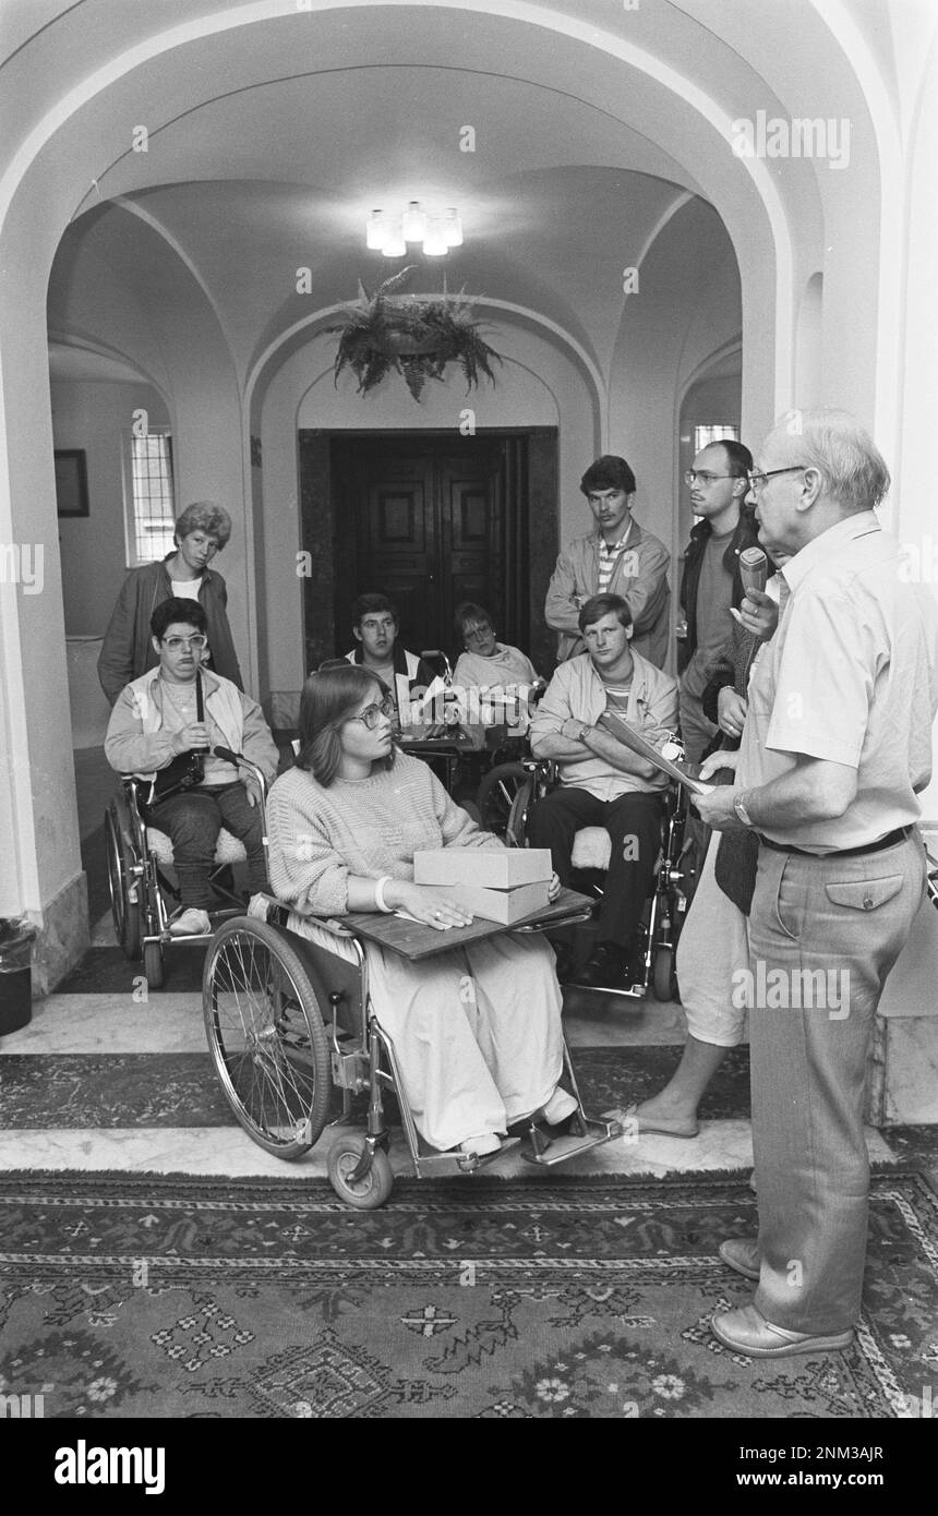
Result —
[{"label": "elderly man in short-sleeved shirt standing in the right foreground", "polygon": [[759,541],[783,562],[779,628],[749,682],[735,784],[694,803],[724,834],[759,837],[743,970],[759,1236],[720,1249],[758,1283],[712,1330],[735,1352],[779,1358],[849,1346],[859,1316],[864,1073],[924,891],[915,822],[932,772],[938,606],[900,573],[874,515],[890,473],[852,417],[779,423],[750,485]]}]

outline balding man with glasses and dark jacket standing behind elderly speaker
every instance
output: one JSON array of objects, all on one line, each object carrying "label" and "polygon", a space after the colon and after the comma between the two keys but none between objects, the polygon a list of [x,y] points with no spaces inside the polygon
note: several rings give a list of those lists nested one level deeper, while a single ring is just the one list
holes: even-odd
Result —
[{"label": "balding man with glasses and dark jacket standing behind elderly speaker", "polygon": [[703,447],[683,476],[694,514],[702,517],[691,532],[680,581],[686,638],[677,672],[680,732],[689,763],[700,763],[717,734],[703,714],[702,696],[733,626],[730,606],[738,609],[743,600],[739,553],[758,541],[753,512],[744,505],[750,468],[749,447],[727,440]]}]

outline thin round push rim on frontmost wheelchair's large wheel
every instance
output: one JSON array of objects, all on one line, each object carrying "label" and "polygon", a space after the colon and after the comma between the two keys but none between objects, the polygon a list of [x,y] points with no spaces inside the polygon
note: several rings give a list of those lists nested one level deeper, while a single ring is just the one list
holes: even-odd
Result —
[{"label": "thin round push rim on frontmost wheelchair's large wheel", "polygon": [[214,951],[212,1055],[227,1099],[255,1137],[308,1145],[318,1067],[292,975],[270,948],[233,932]]}]

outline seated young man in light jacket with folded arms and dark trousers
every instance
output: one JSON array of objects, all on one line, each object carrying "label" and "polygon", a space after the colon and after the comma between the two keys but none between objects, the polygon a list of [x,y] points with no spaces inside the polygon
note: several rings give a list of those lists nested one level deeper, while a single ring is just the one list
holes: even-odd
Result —
[{"label": "seated young man in light jacket with folded arms and dark trousers", "polygon": [[555,760],[561,782],[533,807],[527,838],[532,847],[550,847],[553,867],[568,885],[577,831],[602,826],[609,832],[597,943],[576,981],[602,988],[629,969],[659,854],[668,784],[608,725],[621,719],[653,747],[664,747],[677,728],[677,681],[632,652],[632,614],[621,596],[593,596],[580,609],[579,628],[586,652],[558,667],[530,725],[535,758]]}]

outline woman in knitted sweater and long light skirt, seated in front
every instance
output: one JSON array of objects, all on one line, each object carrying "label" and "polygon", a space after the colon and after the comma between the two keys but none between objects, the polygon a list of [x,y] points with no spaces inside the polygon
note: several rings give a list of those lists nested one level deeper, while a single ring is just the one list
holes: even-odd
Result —
[{"label": "woman in knitted sweater and long light skirt, seated in front", "polygon": [[[297,766],[268,797],[270,878],[289,926],[332,952],[352,948],[305,917],[403,910],[439,931],[471,916],[433,885],[414,884],[414,854],[502,847],[449,797],[432,770],[394,747],[386,688],[362,667],[309,676]],[[559,881],[552,884],[552,897]],[[562,1070],[561,990],[539,937],[496,935],[421,963],[371,943],[371,1002],[394,1043],[421,1137],[477,1155],[508,1126],[576,1101]]]}]

